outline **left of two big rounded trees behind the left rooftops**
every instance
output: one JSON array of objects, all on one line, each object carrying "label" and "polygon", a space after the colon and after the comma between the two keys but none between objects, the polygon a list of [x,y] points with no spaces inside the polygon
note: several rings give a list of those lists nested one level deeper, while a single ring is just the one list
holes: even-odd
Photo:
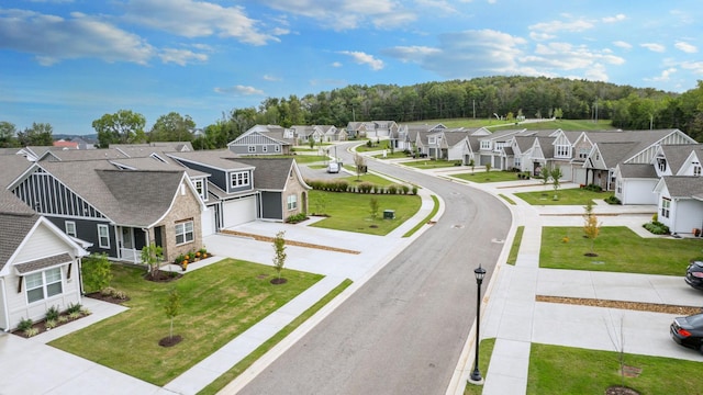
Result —
[{"label": "left of two big rounded trees behind the left rooftops", "polygon": [[132,110],[120,110],[114,114],[104,114],[92,122],[92,127],[98,132],[100,148],[108,148],[110,144],[146,142],[145,125],[144,115]]}]

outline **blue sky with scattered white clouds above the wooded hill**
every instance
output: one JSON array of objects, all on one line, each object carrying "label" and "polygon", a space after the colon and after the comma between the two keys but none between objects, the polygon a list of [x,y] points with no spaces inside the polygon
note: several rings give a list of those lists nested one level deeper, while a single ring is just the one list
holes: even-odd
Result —
[{"label": "blue sky with scattered white clouds above the wooded hill", "polygon": [[204,127],[268,97],[495,75],[683,92],[703,79],[701,20],[693,0],[10,0],[0,121],[91,134],[124,109]]}]

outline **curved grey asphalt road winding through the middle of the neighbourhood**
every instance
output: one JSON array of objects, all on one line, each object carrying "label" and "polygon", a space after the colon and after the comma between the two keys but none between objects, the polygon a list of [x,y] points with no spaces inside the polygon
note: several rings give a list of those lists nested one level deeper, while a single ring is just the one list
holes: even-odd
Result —
[{"label": "curved grey asphalt road winding through the middle of the neighbourhood", "polygon": [[467,185],[367,162],[434,191],[444,215],[239,394],[446,393],[476,317],[473,269],[488,270],[486,291],[510,211]]}]

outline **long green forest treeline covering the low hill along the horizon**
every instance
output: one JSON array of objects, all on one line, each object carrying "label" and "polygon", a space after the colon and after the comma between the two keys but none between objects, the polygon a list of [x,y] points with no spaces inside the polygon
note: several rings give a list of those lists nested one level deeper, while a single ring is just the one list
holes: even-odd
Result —
[{"label": "long green forest treeline covering the low hill along the horizon", "polygon": [[[188,115],[161,115],[149,131],[138,110],[105,114],[92,124],[99,145],[157,140],[192,140],[196,148],[222,148],[256,124],[335,125],[349,122],[422,122],[439,119],[512,119],[517,116],[567,120],[611,120],[623,129],[679,128],[703,142],[703,81],[683,93],[634,88],[610,82],[547,77],[481,77],[470,80],[361,86],[288,98],[267,98],[255,108],[223,111],[210,125]],[[0,121],[0,146],[46,138],[48,124],[24,132]],[[194,133],[202,129],[203,133]],[[37,133],[37,132],[44,132]],[[12,139],[14,136],[14,140]],[[10,140],[8,140],[10,138]],[[8,143],[9,142],[9,143]]]}]

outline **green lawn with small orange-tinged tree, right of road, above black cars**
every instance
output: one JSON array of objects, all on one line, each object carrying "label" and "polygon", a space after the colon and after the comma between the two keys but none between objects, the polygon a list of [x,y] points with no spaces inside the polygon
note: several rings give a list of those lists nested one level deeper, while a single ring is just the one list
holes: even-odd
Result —
[{"label": "green lawn with small orange-tinged tree, right of road, above black cars", "polygon": [[539,267],[553,269],[683,275],[689,260],[703,257],[703,241],[643,238],[627,227],[609,226],[593,242],[598,257],[584,256],[590,251],[582,227],[542,228]]}]

